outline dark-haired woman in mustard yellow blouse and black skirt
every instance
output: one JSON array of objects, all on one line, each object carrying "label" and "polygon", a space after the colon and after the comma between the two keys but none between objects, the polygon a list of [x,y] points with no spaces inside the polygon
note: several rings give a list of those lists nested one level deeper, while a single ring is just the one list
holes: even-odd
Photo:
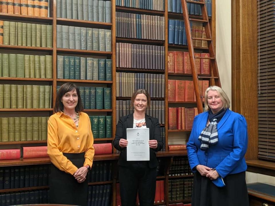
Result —
[{"label": "dark-haired woman in mustard yellow blouse and black skirt", "polygon": [[86,175],[95,150],[89,116],[82,112],[78,87],[63,84],[48,121],[48,155],[52,162],[50,203],[87,206]]}]

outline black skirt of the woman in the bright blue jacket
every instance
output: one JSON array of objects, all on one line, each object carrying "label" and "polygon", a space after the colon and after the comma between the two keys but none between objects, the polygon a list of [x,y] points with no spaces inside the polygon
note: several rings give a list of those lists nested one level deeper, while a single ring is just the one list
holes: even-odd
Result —
[{"label": "black skirt of the woman in the bright blue jacket", "polygon": [[245,172],[227,175],[217,187],[199,172],[194,175],[192,206],[249,206]]}]

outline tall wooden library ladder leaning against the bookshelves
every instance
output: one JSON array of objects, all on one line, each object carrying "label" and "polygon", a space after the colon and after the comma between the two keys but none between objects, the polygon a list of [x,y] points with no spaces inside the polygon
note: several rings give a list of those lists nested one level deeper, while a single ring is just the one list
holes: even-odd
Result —
[{"label": "tall wooden library ladder leaning against the bookshelves", "polygon": [[[203,19],[189,18],[187,3],[199,4],[201,7],[201,13],[202,13]],[[196,100],[197,100],[197,108],[198,108],[198,112],[201,113],[201,112],[203,112],[203,104],[201,101],[202,97],[199,92],[200,91],[199,90],[199,78],[210,79],[209,84],[212,86],[216,85],[216,86],[221,87],[221,82],[219,79],[219,72],[218,72],[215,51],[214,51],[214,47],[213,47],[211,28],[210,28],[210,24],[209,24],[209,20],[208,20],[208,16],[207,16],[207,8],[205,6],[204,0],[199,0],[199,1],[182,0],[181,5],[182,5],[182,11],[183,11],[184,25],[186,28],[186,38],[187,38],[187,43],[188,43],[190,64],[191,64],[191,68],[192,68],[192,76],[193,76],[194,89],[195,89],[195,95],[196,95]],[[206,39],[192,37],[190,21],[203,23],[203,26],[205,27]],[[193,45],[193,41],[192,41],[193,39],[207,41],[210,57],[195,57],[194,45]],[[195,59],[209,59],[210,60],[210,74],[211,74],[211,76],[198,76]],[[204,96],[204,94],[202,94],[202,95]]]}]

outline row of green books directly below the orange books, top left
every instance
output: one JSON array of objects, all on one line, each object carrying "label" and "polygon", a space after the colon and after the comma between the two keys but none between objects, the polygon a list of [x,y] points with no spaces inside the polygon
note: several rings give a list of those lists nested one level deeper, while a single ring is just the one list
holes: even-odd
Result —
[{"label": "row of green books directly below the orange books, top left", "polygon": [[52,25],[0,21],[0,36],[3,45],[52,48]]}]

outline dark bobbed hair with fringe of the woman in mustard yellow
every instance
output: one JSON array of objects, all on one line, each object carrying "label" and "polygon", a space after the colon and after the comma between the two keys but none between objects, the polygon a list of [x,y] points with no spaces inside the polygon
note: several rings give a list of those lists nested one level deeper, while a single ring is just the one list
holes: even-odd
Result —
[{"label": "dark bobbed hair with fringe of the woman in mustard yellow", "polygon": [[61,112],[64,110],[64,105],[61,102],[62,97],[64,96],[64,94],[66,94],[67,92],[70,92],[72,90],[76,90],[76,94],[78,97],[78,102],[77,105],[75,107],[75,111],[76,112],[82,112],[83,111],[83,106],[82,106],[82,101],[81,101],[81,97],[80,97],[80,92],[79,92],[79,88],[71,83],[71,82],[67,82],[65,84],[62,84],[62,86],[59,88],[57,95],[56,95],[56,101],[55,101],[55,106],[54,106],[54,112]]}]

